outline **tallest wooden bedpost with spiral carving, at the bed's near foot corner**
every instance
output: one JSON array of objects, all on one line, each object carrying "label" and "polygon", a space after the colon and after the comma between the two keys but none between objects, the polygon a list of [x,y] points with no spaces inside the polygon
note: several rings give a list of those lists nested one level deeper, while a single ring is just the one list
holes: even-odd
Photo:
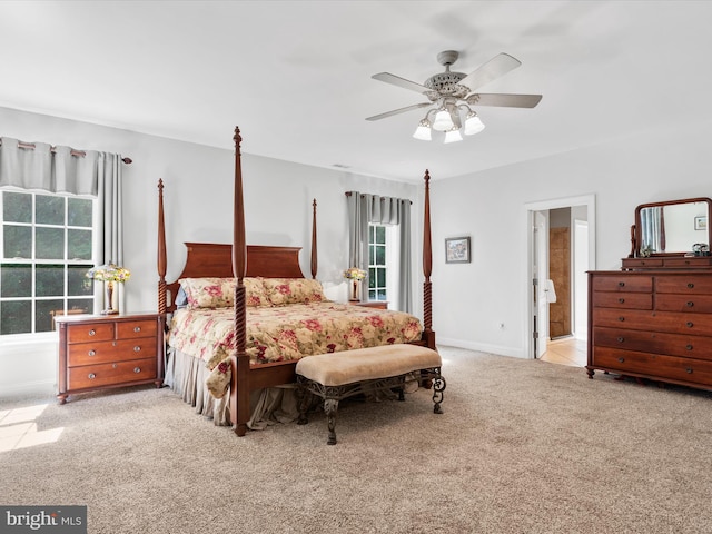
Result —
[{"label": "tallest wooden bedpost with spiral carving, at the bed's near foot corner", "polygon": [[[245,240],[245,201],[243,197],[243,167],[240,162],[240,129],[235,127],[235,204],[233,220],[233,274],[235,285],[235,355],[230,357],[233,370],[230,383],[230,418],[235,434],[244,436],[249,421],[249,356],[245,352],[247,344],[247,320],[245,285],[247,273],[247,244]],[[238,387],[239,384],[239,387]]]}]

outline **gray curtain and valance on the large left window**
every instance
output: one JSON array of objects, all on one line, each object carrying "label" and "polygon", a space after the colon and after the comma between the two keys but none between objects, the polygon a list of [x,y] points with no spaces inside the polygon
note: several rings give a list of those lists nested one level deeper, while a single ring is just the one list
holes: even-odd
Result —
[{"label": "gray curtain and valance on the large left window", "polygon": [[[31,147],[34,148],[31,148]],[[24,147],[24,148],[23,148]],[[23,142],[0,138],[0,186],[27,190],[89,195],[97,197],[98,265],[113,263],[123,267],[123,220],[121,156],[52,147],[43,142]],[[119,309],[126,309],[119,290]]]}]

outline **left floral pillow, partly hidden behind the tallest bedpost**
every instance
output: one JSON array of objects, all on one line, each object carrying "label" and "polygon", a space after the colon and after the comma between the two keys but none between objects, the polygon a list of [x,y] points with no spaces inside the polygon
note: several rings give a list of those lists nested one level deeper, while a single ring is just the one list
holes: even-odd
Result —
[{"label": "left floral pillow, partly hidden behind the tallest bedpost", "polygon": [[[188,308],[231,308],[235,305],[235,278],[181,278]],[[247,306],[269,306],[260,278],[243,278]]]}]

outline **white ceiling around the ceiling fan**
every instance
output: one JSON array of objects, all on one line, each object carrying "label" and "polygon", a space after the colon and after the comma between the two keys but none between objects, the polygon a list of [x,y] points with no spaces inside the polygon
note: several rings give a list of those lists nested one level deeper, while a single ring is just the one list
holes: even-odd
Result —
[{"label": "white ceiling around the ceiling fan", "polygon": [[[0,1],[0,106],[419,181],[709,120],[708,1]],[[411,136],[422,83],[457,50],[469,73],[522,61],[482,92],[486,129],[443,145]],[[0,132],[0,135],[8,135]],[[41,140],[41,139],[37,139]],[[50,140],[51,141],[51,140]]]}]

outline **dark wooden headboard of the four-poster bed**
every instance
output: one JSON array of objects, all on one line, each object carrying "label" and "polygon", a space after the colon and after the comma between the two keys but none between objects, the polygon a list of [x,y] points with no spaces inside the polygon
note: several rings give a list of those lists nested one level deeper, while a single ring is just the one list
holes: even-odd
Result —
[{"label": "dark wooden headboard of the four-poster bed", "polygon": [[[233,245],[185,243],[186,265],[176,281],[167,284],[170,299],[166,312],[176,309],[175,296],[181,278],[233,278]],[[247,246],[247,276],[264,278],[304,278],[299,267],[301,247]]]}]

